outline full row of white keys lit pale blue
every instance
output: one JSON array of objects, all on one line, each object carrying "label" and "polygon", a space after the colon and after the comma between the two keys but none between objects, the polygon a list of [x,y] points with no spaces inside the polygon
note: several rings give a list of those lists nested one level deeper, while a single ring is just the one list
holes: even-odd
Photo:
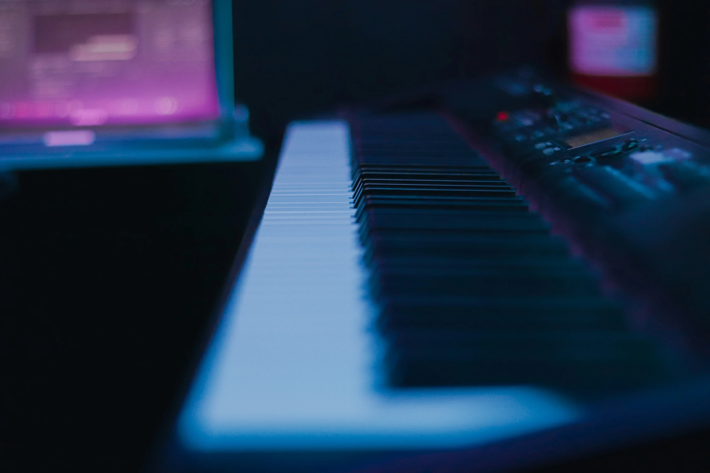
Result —
[{"label": "full row of white keys lit pale blue", "polygon": [[349,128],[297,122],[178,430],[199,451],[450,448],[577,420],[528,386],[391,389],[351,209]]}]

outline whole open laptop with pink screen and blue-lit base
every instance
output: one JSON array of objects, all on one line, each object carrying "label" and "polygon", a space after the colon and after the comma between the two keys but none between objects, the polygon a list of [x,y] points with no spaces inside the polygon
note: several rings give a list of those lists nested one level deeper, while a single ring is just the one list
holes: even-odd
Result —
[{"label": "whole open laptop with pink screen and blue-lit base", "polygon": [[0,0],[0,169],[256,160],[229,0]]}]

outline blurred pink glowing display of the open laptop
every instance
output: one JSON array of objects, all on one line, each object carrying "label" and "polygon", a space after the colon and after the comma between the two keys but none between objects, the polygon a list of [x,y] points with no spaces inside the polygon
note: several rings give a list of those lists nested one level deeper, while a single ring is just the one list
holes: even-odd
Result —
[{"label": "blurred pink glowing display of the open laptop", "polygon": [[0,126],[218,116],[209,0],[0,0]]}]

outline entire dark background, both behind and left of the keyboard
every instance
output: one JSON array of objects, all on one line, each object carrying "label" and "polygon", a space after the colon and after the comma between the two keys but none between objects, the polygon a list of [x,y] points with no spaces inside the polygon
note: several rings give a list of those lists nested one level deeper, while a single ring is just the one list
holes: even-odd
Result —
[{"label": "entire dark background, both behind and left of the keyboard", "polygon": [[[564,79],[568,4],[236,1],[236,96],[268,144],[263,161],[19,173],[0,202],[0,469],[138,469],[288,120],[520,64]],[[710,7],[658,6],[660,91],[645,105],[707,126]]]}]

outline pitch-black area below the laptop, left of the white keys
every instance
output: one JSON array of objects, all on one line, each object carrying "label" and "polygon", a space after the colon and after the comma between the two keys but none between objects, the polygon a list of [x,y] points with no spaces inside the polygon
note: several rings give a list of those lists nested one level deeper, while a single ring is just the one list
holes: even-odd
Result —
[{"label": "pitch-black area below the laptop, left of the white keys", "polygon": [[271,162],[18,173],[0,201],[0,472],[140,471]]}]

